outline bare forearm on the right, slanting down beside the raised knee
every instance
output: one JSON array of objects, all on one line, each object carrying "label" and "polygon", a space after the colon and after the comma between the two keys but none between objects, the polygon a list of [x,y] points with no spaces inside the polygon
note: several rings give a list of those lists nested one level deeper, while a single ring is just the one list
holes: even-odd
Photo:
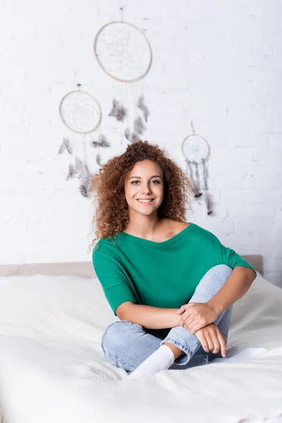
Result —
[{"label": "bare forearm on the right, slanting down beside the raised knee", "polygon": [[220,314],[247,293],[255,277],[252,269],[245,266],[235,267],[226,283],[208,304],[213,305]]}]

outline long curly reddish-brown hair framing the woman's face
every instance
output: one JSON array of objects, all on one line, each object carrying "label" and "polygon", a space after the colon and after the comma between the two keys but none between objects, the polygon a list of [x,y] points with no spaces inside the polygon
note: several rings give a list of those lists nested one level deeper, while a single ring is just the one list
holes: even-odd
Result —
[{"label": "long curly reddish-brown hair framing the woman's face", "polygon": [[190,180],[173,160],[168,159],[166,150],[147,141],[133,142],[123,154],[109,159],[92,177],[90,191],[94,194],[96,210],[92,225],[96,226],[96,236],[90,249],[97,239],[116,236],[128,225],[125,179],[135,163],[144,160],[156,162],[163,171],[164,199],[157,209],[159,218],[185,221],[185,211],[191,211]]}]

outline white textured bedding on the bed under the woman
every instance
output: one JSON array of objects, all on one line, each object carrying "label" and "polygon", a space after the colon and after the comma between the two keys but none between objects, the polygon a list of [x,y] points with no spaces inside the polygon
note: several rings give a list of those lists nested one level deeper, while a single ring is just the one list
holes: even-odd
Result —
[{"label": "white textured bedding on the bed under the woman", "polygon": [[261,275],[235,302],[227,345],[227,357],[267,349],[252,359],[129,381],[102,354],[114,320],[97,278],[0,278],[3,422],[280,421],[282,290]]}]

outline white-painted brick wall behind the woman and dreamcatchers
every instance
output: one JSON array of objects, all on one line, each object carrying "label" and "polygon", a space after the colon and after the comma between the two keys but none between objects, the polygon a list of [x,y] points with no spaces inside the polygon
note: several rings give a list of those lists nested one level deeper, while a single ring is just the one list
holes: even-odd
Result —
[{"label": "white-painted brick wall behind the woman and dreamcatchers", "polygon": [[[193,120],[212,148],[214,214],[207,216],[200,202],[190,220],[242,255],[262,254],[266,278],[282,286],[281,1],[122,5],[124,20],[146,30],[154,54],[145,80],[151,112],[145,139],[184,167],[180,146]],[[123,152],[124,128],[106,116],[120,85],[92,53],[94,35],[119,20],[119,6],[114,0],[1,2],[2,264],[90,259],[91,204],[78,180],[66,181],[73,157],[58,154],[64,134],[58,106],[80,82],[104,112],[102,133],[113,148],[102,152],[103,161]]]}]

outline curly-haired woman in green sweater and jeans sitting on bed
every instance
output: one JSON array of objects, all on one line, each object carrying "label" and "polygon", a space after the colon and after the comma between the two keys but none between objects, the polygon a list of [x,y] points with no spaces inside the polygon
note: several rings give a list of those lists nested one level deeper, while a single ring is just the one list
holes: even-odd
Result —
[{"label": "curly-haired woman in green sweater and jeans sitting on bed", "polygon": [[103,333],[106,359],[130,379],[147,379],[226,357],[233,303],[256,272],[185,221],[192,190],[182,169],[157,145],[138,141],[92,182],[93,266],[120,319]]}]

